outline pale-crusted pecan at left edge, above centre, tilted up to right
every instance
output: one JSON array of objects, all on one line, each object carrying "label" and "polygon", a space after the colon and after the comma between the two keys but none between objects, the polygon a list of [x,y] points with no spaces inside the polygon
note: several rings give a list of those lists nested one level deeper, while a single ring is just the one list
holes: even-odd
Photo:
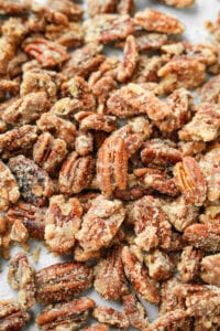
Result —
[{"label": "pale-crusted pecan at left edge, above centre, tilted up to right", "polygon": [[34,92],[14,100],[2,114],[2,119],[13,126],[34,122],[51,103],[45,92]]}]

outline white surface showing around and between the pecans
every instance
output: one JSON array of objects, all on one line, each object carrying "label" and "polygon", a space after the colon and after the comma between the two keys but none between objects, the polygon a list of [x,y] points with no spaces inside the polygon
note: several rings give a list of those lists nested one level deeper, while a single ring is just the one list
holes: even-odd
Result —
[{"label": "white surface showing around and between the pecans", "polygon": [[[62,1],[62,0],[61,0]],[[44,0],[40,0],[38,2],[45,2]],[[84,1],[84,7],[86,9],[86,2]],[[188,41],[195,42],[195,43],[208,43],[210,41],[210,35],[205,29],[205,21],[207,20],[216,20],[217,14],[220,11],[220,1],[219,0],[196,0],[196,4],[188,8],[188,9],[174,9],[170,7],[165,7],[163,4],[158,4],[157,1],[147,1],[147,0],[135,0],[136,3],[136,10],[143,10],[145,7],[152,7],[157,10],[162,10],[164,12],[170,13],[176,15],[186,26],[186,31],[184,33],[184,38]],[[50,254],[44,247],[41,248],[40,253],[40,259],[36,264],[32,260],[32,254],[35,249],[35,247],[38,246],[37,242],[33,242],[31,244],[31,248],[29,252],[29,259],[31,264],[36,268],[40,269],[42,267],[52,265],[53,263],[58,261],[58,258],[53,257],[52,254]],[[21,250],[22,248],[14,247],[11,249],[11,255],[13,256],[18,250]],[[13,291],[7,280],[7,274],[8,274],[8,261],[1,263],[2,273],[0,274],[0,299],[8,299],[8,298],[16,298],[16,292]],[[114,307],[117,309],[120,309],[120,305],[118,303],[110,303],[109,301],[101,300],[94,291],[89,290],[85,295],[92,297],[97,302],[100,302],[102,305],[108,305],[111,307]],[[152,307],[151,305],[146,305],[146,310],[150,319],[156,318],[156,309]],[[37,330],[36,327],[34,327],[33,322],[33,312],[34,314],[40,311],[40,307],[35,305],[31,309],[32,314],[32,323],[30,323],[28,327],[25,327],[23,330]],[[116,329],[114,329],[116,330]],[[132,330],[132,329],[131,329]]]}]

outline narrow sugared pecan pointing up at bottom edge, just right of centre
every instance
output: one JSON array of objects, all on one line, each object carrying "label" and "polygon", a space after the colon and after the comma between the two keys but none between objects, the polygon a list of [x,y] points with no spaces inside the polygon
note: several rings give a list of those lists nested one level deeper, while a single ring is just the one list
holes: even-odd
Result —
[{"label": "narrow sugared pecan pointing up at bottom edge, just right of centre", "polygon": [[148,320],[145,309],[135,295],[131,293],[123,297],[123,309],[132,327],[142,331],[147,330]]}]

